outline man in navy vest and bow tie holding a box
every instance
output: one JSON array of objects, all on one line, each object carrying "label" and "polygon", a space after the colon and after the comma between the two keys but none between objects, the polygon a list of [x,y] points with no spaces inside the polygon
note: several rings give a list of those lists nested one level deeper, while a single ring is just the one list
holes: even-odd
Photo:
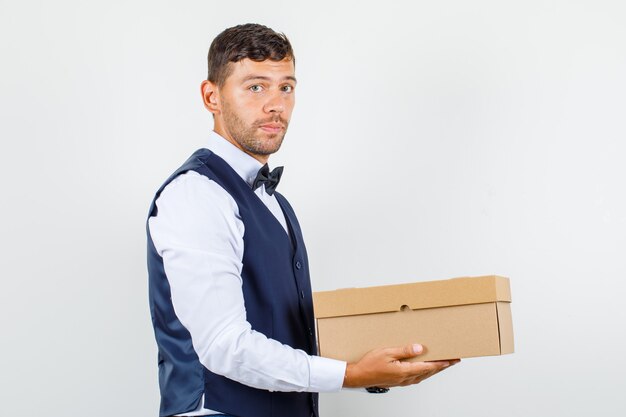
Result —
[{"label": "man in navy vest and bow tie holding a box", "polygon": [[[150,309],[161,416],[317,416],[317,393],[410,385],[456,361],[316,356],[308,259],[269,171],[295,104],[287,38],[256,24],[211,44],[204,105],[214,132],[156,193],[148,219]],[[382,389],[378,389],[382,390]]]}]

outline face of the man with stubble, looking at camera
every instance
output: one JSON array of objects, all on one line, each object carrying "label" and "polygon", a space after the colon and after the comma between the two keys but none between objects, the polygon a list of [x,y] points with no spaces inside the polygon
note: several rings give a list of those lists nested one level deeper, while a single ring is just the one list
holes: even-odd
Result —
[{"label": "face of the man with stubble, looking at camera", "polygon": [[293,61],[243,59],[216,88],[215,131],[261,162],[278,151],[295,105]]}]

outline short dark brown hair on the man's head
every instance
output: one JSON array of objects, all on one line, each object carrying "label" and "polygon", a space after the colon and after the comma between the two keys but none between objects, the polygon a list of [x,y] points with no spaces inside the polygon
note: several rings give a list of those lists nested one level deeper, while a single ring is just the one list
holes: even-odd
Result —
[{"label": "short dark brown hair on the man's head", "polygon": [[296,61],[284,33],[256,23],[246,23],[224,30],[213,40],[207,57],[208,80],[223,86],[232,71],[230,63],[244,58],[253,61],[281,61],[287,58],[294,64]]}]

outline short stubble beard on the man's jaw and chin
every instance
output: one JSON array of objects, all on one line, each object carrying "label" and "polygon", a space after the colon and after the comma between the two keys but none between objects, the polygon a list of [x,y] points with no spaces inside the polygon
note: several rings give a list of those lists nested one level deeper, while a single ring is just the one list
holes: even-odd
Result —
[{"label": "short stubble beard on the man's jaw and chin", "polygon": [[[247,126],[227,102],[223,102],[222,114],[225,127],[233,140],[245,151],[253,155],[271,155],[278,152],[289,126],[289,122],[282,119],[280,115],[263,120],[255,120],[252,126]],[[259,132],[260,126],[272,122],[281,123],[285,128],[281,133],[267,134],[266,137],[261,137]]]}]

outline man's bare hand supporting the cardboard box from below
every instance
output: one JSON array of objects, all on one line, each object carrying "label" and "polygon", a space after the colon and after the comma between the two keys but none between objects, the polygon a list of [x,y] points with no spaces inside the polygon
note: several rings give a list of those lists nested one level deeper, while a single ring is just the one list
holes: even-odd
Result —
[{"label": "man's bare hand supporting the cardboard box from below", "polygon": [[346,367],[345,388],[398,387],[419,384],[460,359],[433,362],[405,362],[420,355],[422,345],[414,344],[397,348],[374,349],[366,353],[358,362]]}]

